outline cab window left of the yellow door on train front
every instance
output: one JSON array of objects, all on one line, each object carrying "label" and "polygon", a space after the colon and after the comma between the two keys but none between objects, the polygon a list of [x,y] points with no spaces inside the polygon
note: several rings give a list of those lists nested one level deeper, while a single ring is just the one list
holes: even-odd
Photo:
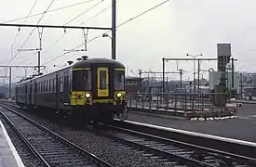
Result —
[{"label": "cab window left of the yellow door on train front", "polygon": [[90,90],[91,89],[91,71],[73,71],[72,89]]}]

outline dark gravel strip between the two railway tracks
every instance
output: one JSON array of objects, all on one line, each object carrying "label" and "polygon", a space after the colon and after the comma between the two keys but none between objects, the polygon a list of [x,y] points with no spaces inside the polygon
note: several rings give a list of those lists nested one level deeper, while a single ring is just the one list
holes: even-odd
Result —
[{"label": "dark gravel strip between the two railway tracks", "polygon": [[86,149],[88,152],[93,153],[97,157],[104,161],[109,162],[113,166],[118,167],[165,167],[169,164],[165,164],[161,161],[155,161],[148,157],[144,157],[141,152],[135,149],[125,148],[120,143],[106,138],[101,135],[95,135],[91,132],[84,130],[74,130],[69,127],[64,127],[58,125],[57,123],[49,122],[46,119],[38,118],[32,113],[24,111],[22,109],[17,109],[13,106],[8,106],[9,108],[19,110],[20,113],[33,119],[47,128],[53,130],[54,132],[62,135],[68,140],[74,142],[77,146]]}]

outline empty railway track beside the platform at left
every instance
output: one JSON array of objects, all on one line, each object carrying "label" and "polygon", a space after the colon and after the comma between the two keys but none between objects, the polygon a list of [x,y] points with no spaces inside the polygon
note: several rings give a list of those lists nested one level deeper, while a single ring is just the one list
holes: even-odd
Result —
[{"label": "empty railway track beside the platform at left", "polygon": [[2,106],[0,113],[17,132],[22,141],[41,161],[50,166],[88,166],[112,167],[85,149],[57,135],[46,127],[21,115],[14,109]]}]

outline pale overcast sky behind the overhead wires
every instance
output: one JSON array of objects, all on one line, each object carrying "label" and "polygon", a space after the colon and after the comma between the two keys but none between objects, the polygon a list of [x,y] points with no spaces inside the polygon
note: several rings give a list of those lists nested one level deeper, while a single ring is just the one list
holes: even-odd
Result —
[{"label": "pale overcast sky behind the overhead wires", "polygon": [[[52,0],[38,0],[31,15],[43,12]],[[8,0],[0,6],[0,21],[26,17],[34,5],[34,0]],[[85,0],[55,0],[49,10],[69,6]],[[133,18],[142,11],[164,2],[163,0],[121,0],[117,3],[117,25]],[[97,13],[111,5],[111,0],[92,0],[79,6],[73,6],[47,13],[40,24],[63,25],[80,13],[93,7],[84,15],[67,25],[81,25]],[[161,58],[185,58],[186,54],[202,53],[203,58],[216,58],[218,43],[231,43],[232,54],[238,59],[236,70],[254,71],[256,65],[256,1],[255,0],[170,0],[163,6],[133,19],[117,29],[116,59],[128,66],[128,72],[161,71]],[[28,18],[25,23],[36,24],[42,15]],[[8,22],[24,23],[24,19]],[[86,22],[87,26],[111,26],[111,9]],[[16,50],[25,42],[33,28],[22,28],[14,44]],[[13,44],[18,28],[0,28],[1,64],[7,64],[11,58],[10,46]],[[83,43],[81,30],[44,29],[42,64],[63,54],[63,49],[72,49]],[[88,31],[91,39],[104,31]],[[109,33],[111,35],[111,33]],[[56,45],[53,45],[57,39]],[[23,48],[37,48],[39,44],[37,29],[34,30]],[[52,47],[51,47],[52,46]],[[48,50],[48,48],[50,49]],[[83,48],[84,46],[81,46]],[[255,50],[253,50],[255,49]],[[22,52],[10,63],[13,65],[35,65],[37,58],[33,52]],[[90,58],[111,58],[111,40],[99,37],[88,43],[88,52],[66,54],[45,65],[47,70],[54,70],[53,65],[63,65],[67,60],[74,60],[82,55]],[[255,61],[255,63],[253,62]],[[203,62],[202,68],[215,67],[216,62]],[[188,77],[193,71],[193,63],[179,62],[179,69],[186,71]],[[167,71],[176,71],[176,62],[168,62]],[[23,70],[15,71],[15,76]],[[179,78],[170,75],[171,78]]]}]

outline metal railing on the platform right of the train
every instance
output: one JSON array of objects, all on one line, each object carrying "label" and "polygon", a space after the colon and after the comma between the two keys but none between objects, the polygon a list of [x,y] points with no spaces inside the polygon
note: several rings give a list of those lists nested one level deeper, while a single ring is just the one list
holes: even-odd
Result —
[{"label": "metal railing on the platform right of the train", "polygon": [[153,93],[128,94],[129,108],[212,111],[225,109],[227,94]]}]

